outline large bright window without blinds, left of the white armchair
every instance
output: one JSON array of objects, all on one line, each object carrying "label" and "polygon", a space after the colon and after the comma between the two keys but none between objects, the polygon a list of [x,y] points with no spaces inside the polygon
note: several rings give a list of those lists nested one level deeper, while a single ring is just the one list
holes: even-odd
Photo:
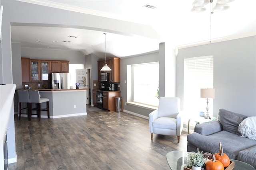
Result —
[{"label": "large bright window without blinds, left of the white armchair", "polygon": [[158,106],[159,64],[132,65],[133,102]]}]

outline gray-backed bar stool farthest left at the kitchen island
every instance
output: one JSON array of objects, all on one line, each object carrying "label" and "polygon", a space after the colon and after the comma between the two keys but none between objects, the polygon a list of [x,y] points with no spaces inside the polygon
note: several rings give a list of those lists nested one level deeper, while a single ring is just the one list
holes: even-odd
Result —
[{"label": "gray-backed bar stool farthest left at the kitchen island", "polygon": [[[20,103],[20,115],[28,115],[28,120],[30,120],[30,99],[29,99],[29,94],[28,94],[28,90],[18,90],[18,99],[19,99],[19,103]],[[27,107],[21,108],[21,103],[26,103]],[[28,109],[27,113],[21,113],[21,110],[23,109]],[[19,120],[20,120],[20,115],[19,115]]]}]

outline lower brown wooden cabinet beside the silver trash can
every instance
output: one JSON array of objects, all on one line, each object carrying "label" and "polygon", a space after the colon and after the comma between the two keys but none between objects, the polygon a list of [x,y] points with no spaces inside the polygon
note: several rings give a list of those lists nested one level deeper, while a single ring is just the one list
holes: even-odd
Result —
[{"label": "lower brown wooden cabinet beside the silver trash can", "polygon": [[116,105],[115,100],[116,98],[120,97],[119,91],[112,92],[112,91],[104,91],[103,92],[103,108],[108,111],[115,111]]}]

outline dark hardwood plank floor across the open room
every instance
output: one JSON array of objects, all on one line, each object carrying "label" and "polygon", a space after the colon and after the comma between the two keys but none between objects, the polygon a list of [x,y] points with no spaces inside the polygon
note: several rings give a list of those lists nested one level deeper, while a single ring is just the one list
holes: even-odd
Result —
[{"label": "dark hardwood plank floor across the open room", "polygon": [[[89,106],[90,107],[90,106]],[[28,121],[15,117],[17,162],[9,170],[170,170],[166,154],[186,151],[187,132],[150,139],[148,120],[124,112]]]}]

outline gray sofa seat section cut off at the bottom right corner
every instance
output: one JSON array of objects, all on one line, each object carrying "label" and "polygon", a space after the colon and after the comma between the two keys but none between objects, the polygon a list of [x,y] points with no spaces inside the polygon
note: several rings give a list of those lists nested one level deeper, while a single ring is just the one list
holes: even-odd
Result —
[{"label": "gray sofa seat section cut off at the bottom right corner", "polygon": [[256,160],[255,159],[256,159],[256,146],[250,147],[245,150],[241,150],[238,153],[238,157],[237,157],[237,160],[246,162],[246,163],[254,166],[254,168],[256,168]]}]

